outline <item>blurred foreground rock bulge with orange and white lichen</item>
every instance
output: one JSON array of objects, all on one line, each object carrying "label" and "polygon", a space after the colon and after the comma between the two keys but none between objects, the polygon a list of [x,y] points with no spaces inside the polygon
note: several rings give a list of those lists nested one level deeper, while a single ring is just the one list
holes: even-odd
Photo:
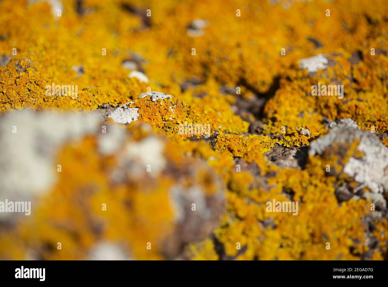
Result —
[{"label": "blurred foreground rock bulge with orange and white lichen", "polygon": [[[7,135],[0,139],[0,196],[33,202],[27,219],[1,212],[0,220],[35,232],[31,241],[29,231],[14,230],[18,240],[1,249],[2,259],[16,249],[21,259],[173,259],[210,236],[224,210],[221,177],[203,159],[175,157],[149,125],[125,129],[93,114],[24,110],[3,114],[0,129]],[[47,247],[59,238],[77,247]],[[1,246],[8,239],[2,233]]]}]

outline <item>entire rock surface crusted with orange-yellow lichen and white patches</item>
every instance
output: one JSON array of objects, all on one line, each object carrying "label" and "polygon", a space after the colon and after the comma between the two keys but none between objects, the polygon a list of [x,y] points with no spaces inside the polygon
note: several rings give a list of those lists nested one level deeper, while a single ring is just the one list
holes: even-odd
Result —
[{"label": "entire rock surface crusted with orange-yellow lichen and white patches", "polygon": [[0,259],[387,259],[386,19],[385,0],[0,1],[0,202],[32,203],[0,213]]}]

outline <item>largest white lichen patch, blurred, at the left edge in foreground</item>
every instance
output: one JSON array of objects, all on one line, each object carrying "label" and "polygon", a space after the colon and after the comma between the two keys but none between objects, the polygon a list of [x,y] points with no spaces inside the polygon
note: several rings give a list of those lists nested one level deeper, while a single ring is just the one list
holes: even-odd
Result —
[{"label": "largest white lichen patch, blurred, at the left edge in foreground", "polygon": [[[99,117],[89,113],[5,113],[0,118],[0,198],[28,200],[55,183],[57,148],[94,133]],[[65,168],[65,167],[62,167]],[[2,213],[4,214],[4,213]]]}]

